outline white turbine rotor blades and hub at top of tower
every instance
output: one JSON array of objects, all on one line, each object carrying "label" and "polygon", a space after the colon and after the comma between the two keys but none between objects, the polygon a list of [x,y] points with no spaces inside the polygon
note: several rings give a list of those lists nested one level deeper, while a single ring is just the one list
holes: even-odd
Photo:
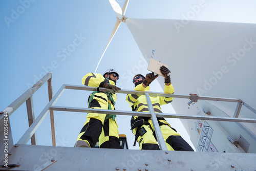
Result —
[{"label": "white turbine rotor blades and hub at top of tower", "polygon": [[125,23],[125,19],[127,18],[127,17],[124,16],[124,14],[125,14],[125,11],[126,11],[126,9],[127,9],[127,5],[128,5],[128,3],[129,3],[129,0],[126,0],[126,1],[125,1],[125,3],[124,3],[124,5],[123,5],[123,8],[122,8],[122,9],[120,8],[120,6],[118,5],[118,3],[117,3],[115,0],[109,0],[109,1],[110,1],[110,4],[111,4],[111,6],[112,6],[114,12],[116,13],[117,20],[116,20],[116,24],[115,24],[115,26],[114,26],[114,29],[113,29],[113,31],[112,31],[112,33],[111,33],[110,39],[109,39],[109,41],[108,41],[108,44],[106,44],[106,47],[105,47],[105,49],[104,49],[104,51],[103,51],[103,54],[102,54],[101,57],[100,57],[100,60],[99,60],[99,62],[98,62],[98,65],[97,65],[97,67],[96,67],[94,73],[96,73],[96,71],[97,71],[97,69],[98,69],[98,66],[99,66],[99,63],[100,63],[100,61],[101,61],[103,55],[105,54],[106,49],[108,49],[108,47],[109,47],[109,45],[110,45],[110,42],[111,42],[111,40],[113,39],[114,35],[116,34],[116,31],[117,31],[117,29],[119,28],[121,22],[124,22],[124,23]]}]

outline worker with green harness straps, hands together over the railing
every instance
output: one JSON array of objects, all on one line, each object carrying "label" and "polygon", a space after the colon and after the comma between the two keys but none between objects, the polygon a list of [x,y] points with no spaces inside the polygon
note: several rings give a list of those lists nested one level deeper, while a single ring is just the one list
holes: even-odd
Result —
[{"label": "worker with green harness straps, hands together over the railing", "polygon": [[[88,73],[83,76],[82,84],[90,87],[112,89],[114,92],[121,90],[116,87],[119,75],[115,69],[108,69],[101,74]],[[97,89],[88,99],[88,108],[115,110],[116,93],[102,92]],[[75,147],[94,147],[99,140],[100,148],[119,148],[118,126],[116,115],[88,113],[87,121],[84,123],[78,135]]]}]

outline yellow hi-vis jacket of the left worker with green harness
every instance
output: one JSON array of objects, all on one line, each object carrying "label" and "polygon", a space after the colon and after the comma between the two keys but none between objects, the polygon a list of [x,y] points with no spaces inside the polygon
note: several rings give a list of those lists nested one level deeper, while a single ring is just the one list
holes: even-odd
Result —
[{"label": "yellow hi-vis jacket of the left worker with green harness", "polygon": [[[99,87],[100,83],[106,83],[104,82],[105,78],[101,74],[94,74],[94,73],[88,73],[87,75],[84,75],[82,78],[82,84],[84,86],[90,86],[90,87]],[[114,81],[109,80],[109,83],[112,85],[116,85]],[[90,97],[93,95],[93,98],[89,101]],[[109,97],[108,97],[109,96]],[[105,105],[100,104],[105,104],[109,103],[109,108],[110,110],[115,110],[115,102],[117,100],[117,95],[116,93],[104,93],[104,92],[94,92],[90,95],[88,99],[88,107],[89,108],[101,108],[105,109]],[[110,107],[111,106],[111,107]],[[113,118],[114,119],[114,118]]]}]

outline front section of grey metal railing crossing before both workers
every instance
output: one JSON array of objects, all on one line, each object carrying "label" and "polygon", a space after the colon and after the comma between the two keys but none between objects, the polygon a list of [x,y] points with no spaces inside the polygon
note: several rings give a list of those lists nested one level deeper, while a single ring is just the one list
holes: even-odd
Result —
[{"label": "front section of grey metal railing crossing before both workers", "polygon": [[[90,113],[102,113],[102,114],[116,114],[116,115],[136,115],[136,116],[151,116],[154,127],[158,127],[159,124],[155,117],[167,117],[167,118],[180,118],[180,119],[201,119],[201,120],[215,120],[215,121],[232,121],[232,122],[250,122],[256,123],[256,119],[250,118],[238,118],[238,117],[213,117],[213,116],[194,116],[194,115],[180,115],[180,114],[164,114],[164,113],[155,113],[153,106],[151,104],[150,95],[151,96],[162,96],[162,97],[175,97],[175,98],[187,98],[190,99],[191,95],[180,95],[180,94],[167,94],[167,93],[158,93],[158,92],[141,92],[141,91],[133,91],[133,90],[119,90],[116,93],[122,94],[137,94],[137,95],[146,95],[148,100],[148,108],[150,109],[150,113],[146,112],[133,112],[133,111],[117,111],[117,110],[102,110],[102,109],[89,109],[89,108],[72,108],[67,106],[54,106],[54,103],[58,100],[65,89],[72,90],[84,90],[84,91],[97,91],[95,87],[87,87],[87,86],[74,86],[63,84],[62,87],[55,94],[53,99],[46,105],[45,109],[39,114],[36,118],[35,122],[29,127],[26,133],[22,138],[18,141],[20,144],[26,144],[28,140],[31,138],[32,134],[35,133],[37,127],[40,125],[42,120],[47,116],[50,111],[67,111],[67,112],[90,112]],[[113,92],[111,89],[100,88],[100,91],[104,92]],[[246,104],[246,108],[250,109],[255,113],[256,110],[251,108],[247,103],[244,103],[241,99],[234,98],[221,98],[221,97],[208,97],[208,96],[198,96],[199,100],[214,100],[214,101],[227,101],[227,102],[237,102],[240,104]],[[196,100],[198,100],[196,99]],[[166,150],[166,145],[161,137],[162,134],[159,129],[156,129],[156,134],[158,137],[160,149]]]}]

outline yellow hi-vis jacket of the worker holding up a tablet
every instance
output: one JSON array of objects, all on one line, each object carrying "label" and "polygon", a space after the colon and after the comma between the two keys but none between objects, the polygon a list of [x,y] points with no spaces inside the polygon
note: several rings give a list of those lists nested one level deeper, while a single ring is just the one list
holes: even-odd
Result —
[{"label": "yellow hi-vis jacket of the worker holding up a tablet", "polygon": [[[150,87],[147,86],[144,88],[142,83],[135,87],[136,91],[149,91]],[[174,87],[172,83],[169,86],[164,87],[164,93],[174,93]],[[156,113],[162,113],[160,106],[170,103],[173,101],[173,97],[159,97],[159,96],[150,96],[154,111]],[[146,96],[145,95],[135,95],[135,94],[127,94],[126,102],[129,103],[132,110],[135,112],[149,112],[147,108]],[[131,119],[131,127],[133,130],[135,127],[141,124],[147,124],[147,119],[151,119],[151,117],[141,117],[141,116],[133,116]],[[164,118],[158,118],[158,120],[165,120]]]}]

